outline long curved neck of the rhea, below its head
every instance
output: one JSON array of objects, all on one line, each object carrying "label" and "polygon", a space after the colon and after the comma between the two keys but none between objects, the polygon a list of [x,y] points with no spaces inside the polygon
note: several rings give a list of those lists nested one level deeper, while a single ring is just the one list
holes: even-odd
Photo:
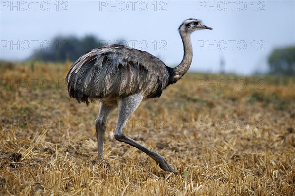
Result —
[{"label": "long curved neck of the rhea, below its head", "polygon": [[171,69],[169,75],[170,84],[177,82],[187,72],[193,60],[193,47],[190,34],[180,33],[180,36],[184,50],[183,59],[177,67]]}]

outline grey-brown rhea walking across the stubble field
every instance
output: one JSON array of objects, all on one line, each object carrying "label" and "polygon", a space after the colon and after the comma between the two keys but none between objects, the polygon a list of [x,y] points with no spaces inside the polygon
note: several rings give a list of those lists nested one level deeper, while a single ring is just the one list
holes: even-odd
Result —
[{"label": "grey-brown rhea walking across the stubble field", "polygon": [[162,155],[127,137],[123,128],[143,100],[159,98],[167,86],[176,83],[187,72],[193,57],[190,35],[199,29],[212,28],[198,19],[187,19],[179,26],[184,55],[175,68],[167,67],[148,52],[118,44],[92,49],[73,63],[66,76],[69,96],[87,105],[88,99],[100,101],[95,124],[99,161],[103,156],[107,118],[118,107],[115,139],[138,148],[163,170],[177,174]]}]

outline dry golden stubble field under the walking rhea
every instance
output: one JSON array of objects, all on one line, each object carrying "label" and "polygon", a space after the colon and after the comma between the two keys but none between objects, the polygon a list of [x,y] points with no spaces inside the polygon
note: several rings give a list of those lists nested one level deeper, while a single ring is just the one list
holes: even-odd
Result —
[{"label": "dry golden stubble field under the walking rhea", "polygon": [[116,111],[98,163],[99,105],[68,98],[65,74],[61,64],[1,62],[1,196],[294,195],[293,79],[188,73],[143,102],[125,132],[174,175],[113,138]]}]

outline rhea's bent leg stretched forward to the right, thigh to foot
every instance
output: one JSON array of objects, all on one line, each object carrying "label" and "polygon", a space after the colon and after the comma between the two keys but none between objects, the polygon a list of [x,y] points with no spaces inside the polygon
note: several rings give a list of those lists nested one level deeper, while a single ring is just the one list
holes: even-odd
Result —
[{"label": "rhea's bent leg stretched forward to the right, thigh to foot", "polygon": [[131,146],[136,147],[148,154],[148,156],[153,158],[163,170],[177,174],[177,172],[167,163],[163,156],[155,151],[148,149],[135,140],[127,137],[123,132],[123,128],[125,127],[127,120],[130,118],[135,109],[139,106],[142,99],[143,95],[139,93],[118,100],[118,122],[116,125],[114,137],[116,140],[130,144]]}]

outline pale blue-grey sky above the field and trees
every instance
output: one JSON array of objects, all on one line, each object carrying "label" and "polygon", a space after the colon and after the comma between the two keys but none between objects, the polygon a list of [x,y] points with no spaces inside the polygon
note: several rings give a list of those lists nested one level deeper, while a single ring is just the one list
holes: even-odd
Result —
[{"label": "pale blue-grey sky above the field and trees", "polygon": [[[191,35],[189,71],[249,75],[267,71],[275,48],[295,45],[295,0],[0,0],[0,59],[21,61],[57,35],[94,35],[103,43],[148,51],[178,65],[183,45],[177,31],[188,18],[213,30]],[[81,54],[82,55],[82,54]]]}]

